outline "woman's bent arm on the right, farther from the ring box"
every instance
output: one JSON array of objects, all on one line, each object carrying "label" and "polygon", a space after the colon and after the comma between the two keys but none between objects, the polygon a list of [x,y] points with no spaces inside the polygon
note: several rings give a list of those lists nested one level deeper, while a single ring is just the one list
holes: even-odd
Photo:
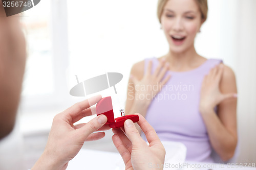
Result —
[{"label": "woman's bent arm on the right, farther from the ring box", "polygon": [[[210,143],[223,161],[233,156],[237,146],[236,93],[234,73],[231,68],[223,64],[212,69],[202,84],[201,115]],[[214,111],[216,105],[218,105],[217,114]]]}]

